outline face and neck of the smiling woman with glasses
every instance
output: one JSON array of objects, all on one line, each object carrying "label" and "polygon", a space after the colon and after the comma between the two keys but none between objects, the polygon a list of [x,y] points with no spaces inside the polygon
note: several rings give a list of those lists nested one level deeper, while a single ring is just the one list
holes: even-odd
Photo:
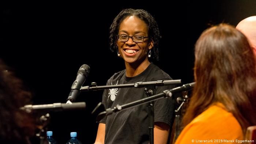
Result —
[{"label": "face and neck of the smiling woman with glasses", "polygon": [[[120,39],[122,40],[120,41]],[[126,67],[134,67],[135,65],[135,67],[138,67],[138,65],[141,65],[141,67],[146,68],[150,64],[147,53],[153,48],[153,45],[153,40],[148,39],[147,24],[143,20],[136,16],[128,16],[120,24],[117,46]],[[129,72],[127,76],[136,76],[142,71],[144,69],[140,69],[136,73]]]}]

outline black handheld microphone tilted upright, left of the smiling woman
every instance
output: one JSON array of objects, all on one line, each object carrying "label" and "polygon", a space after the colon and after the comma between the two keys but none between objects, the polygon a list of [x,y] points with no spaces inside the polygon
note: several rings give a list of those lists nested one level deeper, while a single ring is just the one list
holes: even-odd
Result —
[{"label": "black handheld microphone tilted upright, left of the smiling woman", "polygon": [[72,104],[75,102],[76,97],[80,94],[83,83],[85,82],[87,76],[89,75],[90,67],[89,65],[83,64],[77,73],[76,80],[71,86],[71,91],[67,98],[66,104]]}]

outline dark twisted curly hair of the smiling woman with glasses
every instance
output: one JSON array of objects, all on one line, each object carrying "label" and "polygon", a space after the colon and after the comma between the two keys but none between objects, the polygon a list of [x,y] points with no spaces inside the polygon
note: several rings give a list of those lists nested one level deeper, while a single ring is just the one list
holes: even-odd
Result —
[{"label": "dark twisted curly hair of the smiling woman with glasses", "polygon": [[161,38],[161,35],[159,33],[158,25],[155,19],[151,14],[149,14],[145,10],[134,10],[132,8],[125,9],[121,11],[116,18],[114,18],[113,23],[110,26],[110,50],[114,52],[115,50],[117,51],[117,35],[119,31],[119,27],[121,22],[127,18],[128,16],[136,16],[143,20],[147,26],[148,26],[148,35],[149,37],[154,41],[154,47],[151,49],[152,56],[155,60],[158,60],[158,43],[159,39]]}]

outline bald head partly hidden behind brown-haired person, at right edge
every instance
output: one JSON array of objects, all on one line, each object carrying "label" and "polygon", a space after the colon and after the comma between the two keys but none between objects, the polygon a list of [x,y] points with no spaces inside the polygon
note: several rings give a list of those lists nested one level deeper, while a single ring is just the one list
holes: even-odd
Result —
[{"label": "bald head partly hidden behind brown-haired person, at right edge", "polygon": [[256,16],[250,16],[237,24],[236,29],[240,30],[249,40],[251,46],[256,48]]}]

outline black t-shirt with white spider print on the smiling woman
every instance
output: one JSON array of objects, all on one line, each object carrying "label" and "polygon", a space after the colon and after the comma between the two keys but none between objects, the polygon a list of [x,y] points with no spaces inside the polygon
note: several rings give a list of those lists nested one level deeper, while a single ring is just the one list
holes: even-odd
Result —
[{"label": "black t-shirt with white spider print on the smiling woman", "polygon": [[[172,78],[154,64],[150,64],[145,71],[135,77],[126,77],[126,70],[115,73],[107,85],[130,84],[136,82],[152,82],[157,80],[172,80]],[[151,90],[154,87],[148,87]],[[159,94],[174,86],[156,87],[154,94]],[[105,108],[124,105],[129,102],[146,98],[144,88],[113,88],[105,90],[102,103]],[[105,144],[148,144],[149,120],[148,104],[121,110],[103,118],[100,123],[106,124]],[[154,122],[164,122],[172,125],[174,104],[171,98],[154,101]]]}]

